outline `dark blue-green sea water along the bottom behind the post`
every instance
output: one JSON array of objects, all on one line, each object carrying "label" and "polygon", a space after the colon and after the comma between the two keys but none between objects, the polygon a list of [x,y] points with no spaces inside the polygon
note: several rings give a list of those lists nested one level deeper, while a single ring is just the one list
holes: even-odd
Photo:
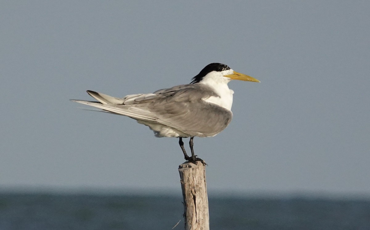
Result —
[{"label": "dark blue-green sea water along the bottom behind the post", "polygon": [[[184,229],[181,196],[0,193],[0,230]],[[369,229],[370,201],[209,197],[210,228]]]}]

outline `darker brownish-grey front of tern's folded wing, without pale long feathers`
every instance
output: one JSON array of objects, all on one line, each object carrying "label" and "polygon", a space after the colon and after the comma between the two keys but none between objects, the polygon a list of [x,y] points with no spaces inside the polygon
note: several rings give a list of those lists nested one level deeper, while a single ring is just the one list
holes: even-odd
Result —
[{"label": "darker brownish-grey front of tern's folded wing, without pale long feathers", "polygon": [[[192,84],[178,88],[172,96],[157,99],[148,108],[162,124],[194,136],[214,136],[228,126],[232,119],[230,110],[204,100],[218,96],[206,85]],[[169,90],[161,91],[161,94]]]}]

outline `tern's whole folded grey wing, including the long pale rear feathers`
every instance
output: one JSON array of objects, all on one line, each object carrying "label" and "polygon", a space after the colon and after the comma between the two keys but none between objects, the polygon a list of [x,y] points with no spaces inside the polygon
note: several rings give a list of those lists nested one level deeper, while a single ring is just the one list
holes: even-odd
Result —
[{"label": "tern's whole folded grey wing, including the long pale rear feathers", "polygon": [[111,97],[112,101],[120,103],[109,103],[110,96],[107,95],[102,100],[99,97],[102,94],[88,93],[101,103],[76,102],[136,120],[163,124],[192,136],[214,136],[225,129],[232,119],[230,110],[204,101],[218,95],[202,84],[180,85],[150,94],[127,95],[122,99]]}]

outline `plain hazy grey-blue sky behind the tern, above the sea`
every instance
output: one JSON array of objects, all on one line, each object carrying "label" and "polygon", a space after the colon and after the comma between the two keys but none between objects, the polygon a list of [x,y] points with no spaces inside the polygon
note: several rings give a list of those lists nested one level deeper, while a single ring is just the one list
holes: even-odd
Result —
[{"label": "plain hazy grey-blue sky behind the tern, above the sea", "polygon": [[0,187],[181,194],[178,139],[69,99],[151,93],[220,62],[261,83],[231,81],[231,124],[194,138],[209,191],[369,196],[369,12],[369,1],[3,1]]}]

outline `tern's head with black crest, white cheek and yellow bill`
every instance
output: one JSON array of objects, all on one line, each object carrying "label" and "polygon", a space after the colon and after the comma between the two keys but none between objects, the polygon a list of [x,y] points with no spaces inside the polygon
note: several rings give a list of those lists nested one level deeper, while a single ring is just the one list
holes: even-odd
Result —
[{"label": "tern's head with black crest, white cheek and yellow bill", "polygon": [[192,78],[191,84],[201,82],[203,78],[221,78],[225,77],[227,82],[229,80],[244,80],[249,82],[260,82],[259,80],[252,78],[251,76],[243,73],[238,73],[230,69],[229,66],[221,63],[211,63],[204,67],[201,72]]}]

